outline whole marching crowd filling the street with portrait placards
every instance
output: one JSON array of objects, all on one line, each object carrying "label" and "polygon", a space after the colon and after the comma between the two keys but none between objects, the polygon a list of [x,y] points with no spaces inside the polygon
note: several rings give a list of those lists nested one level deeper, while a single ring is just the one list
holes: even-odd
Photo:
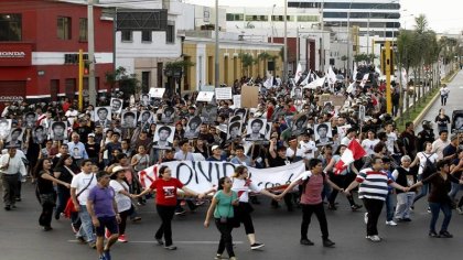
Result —
[{"label": "whole marching crowd filling the street with portrait placards", "polygon": [[[247,82],[236,80],[233,94],[239,95]],[[462,214],[463,206],[463,199],[456,198],[463,183],[463,148],[462,137],[450,134],[443,109],[435,119],[437,134],[428,121],[419,133],[411,122],[399,132],[392,116],[386,113],[383,83],[355,84],[349,93],[337,85],[311,89],[274,83],[259,87],[255,108],[217,100],[213,112],[207,102],[196,101],[197,93],[140,101],[115,96],[83,111],[67,98],[50,104],[8,104],[0,119],[4,209],[17,208],[22,199],[21,184],[30,176],[42,206],[39,224],[43,229],[52,230],[53,218],[69,217],[77,239],[96,248],[99,259],[106,260],[116,241],[128,241],[127,221],[141,219],[137,207],[153,193],[161,219],[154,239],[169,250],[176,249],[173,216],[183,215],[184,205],[195,210],[203,197],[213,197],[204,226],[213,218],[220,232],[216,259],[222,259],[225,250],[229,259],[236,259],[232,231],[240,224],[250,248],[263,247],[256,239],[251,218],[251,205],[260,204],[256,194],[271,197],[272,207],[284,201],[290,212],[302,208],[301,245],[313,245],[308,229],[315,214],[323,246],[334,246],[324,203],[329,210],[336,210],[338,193],[346,196],[352,210],[365,207],[370,241],[381,240],[377,224],[384,205],[386,224],[396,226],[412,220],[411,212],[421,210],[413,209],[413,204],[426,195],[431,213],[429,236],[452,237],[448,230],[452,208]],[[323,101],[323,95],[344,97],[344,102]],[[365,155],[338,169],[343,154],[352,153],[353,142]],[[168,166],[161,166],[159,177],[143,187],[138,172],[171,161],[232,162],[236,167],[233,176],[219,180],[217,191],[192,191],[172,176]],[[306,171],[282,189],[263,189],[248,176],[248,167],[299,161],[305,163]],[[352,195],[357,186],[358,198]],[[177,189],[196,199],[183,201]],[[444,220],[438,230],[440,212]]]}]

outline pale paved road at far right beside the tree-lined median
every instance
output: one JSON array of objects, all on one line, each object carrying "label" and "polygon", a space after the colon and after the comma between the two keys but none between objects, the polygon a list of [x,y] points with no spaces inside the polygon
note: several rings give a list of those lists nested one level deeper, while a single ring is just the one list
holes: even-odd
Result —
[{"label": "pale paved road at far right beside the tree-lined median", "polygon": [[[439,115],[439,109],[444,108],[445,113],[452,118],[452,111],[457,109],[463,109],[463,71],[460,71],[453,80],[448,84],[448,88],[450,89],[449,99],[446,100],[446,106],[441,106],[441,98],[439,97],[435,99],[434,104],[432,105],[431,109],[428,113],[423,117],[422,120],[429,120],[434,122],[435,117]],[[421,121],[422,121],[421,120]],[[433,123],[434,133],[439,136],[438,126]],[[450,124],[449,124],[450,129]],[[421,122],[416,128],[416,132],[420,132],[422,130]]]}]

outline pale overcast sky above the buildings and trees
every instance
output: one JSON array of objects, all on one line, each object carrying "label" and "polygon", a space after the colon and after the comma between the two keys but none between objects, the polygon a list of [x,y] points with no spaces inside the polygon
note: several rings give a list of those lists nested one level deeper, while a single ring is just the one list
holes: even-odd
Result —
[{"label": "pale overcast sky above the buildings and trees", "polygon": [[[187,3],[213,7],[214,0],[184,0]],[[219,6],[232,7],[283,7],[284,0],[218,0]],[[358,1],[358,0],[355,0]],[[372,1],[372,0],[366,0]],[[429,26],[435,32],[459,33],[463,31],[462,0],[400,0],[401,24],[411,29],[414,17],[424,14]]]}]

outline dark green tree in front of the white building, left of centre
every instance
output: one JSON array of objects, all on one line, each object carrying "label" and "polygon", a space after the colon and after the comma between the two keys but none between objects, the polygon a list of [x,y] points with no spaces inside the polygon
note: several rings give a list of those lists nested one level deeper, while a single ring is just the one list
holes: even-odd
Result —
[{"label": "dark green tree in front of the white building, left of centre", "polygon": [[119,87],[119,90],[123,94],[123,99],[129,99],[131,95],[141,90],[137,74],[129,74],[122,66],[118,67],[115,72],[107,72],[105,77],[106,83],[111,85],[111,89]]}]

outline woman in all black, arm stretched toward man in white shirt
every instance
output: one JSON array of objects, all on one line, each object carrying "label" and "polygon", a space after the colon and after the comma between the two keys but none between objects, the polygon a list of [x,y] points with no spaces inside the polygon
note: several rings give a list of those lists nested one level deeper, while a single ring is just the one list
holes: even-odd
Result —
[{"label": "woman in all black, arm stretched toward man in white shirt", "polygon": [[52,175],[52,160],[42,159],[37,162],[34,170],[34,177],[37,181],[36,195],[39,202],[42,205],[42,214],[39,217],[39,224],[43,227],[43,230],[52,230],[52,217],[53,208],[56,205],[56,192],[53,183],[62,185],[66,188],[71,187],[69,183],[60,181]]}]

